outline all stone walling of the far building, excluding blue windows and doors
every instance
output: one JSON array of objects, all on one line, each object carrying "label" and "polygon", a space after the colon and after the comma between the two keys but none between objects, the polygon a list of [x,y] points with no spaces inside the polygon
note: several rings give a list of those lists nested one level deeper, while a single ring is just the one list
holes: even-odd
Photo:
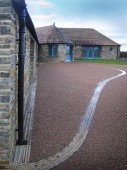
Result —
[{"label": "all stone walling of the far building, excluding blue windows and doors", "polygon": [[[102,59],[117,59],[119,58],[119,47],[118,46],[102,46],[100,48],[100,58]],[[72,60],[82,58],[82,46],[73,46]],[[58,45],[58,56],[51,58],[48,55],[48,45],[43,44],[39,47],[39,61],[66,61],[66,45]]]}]

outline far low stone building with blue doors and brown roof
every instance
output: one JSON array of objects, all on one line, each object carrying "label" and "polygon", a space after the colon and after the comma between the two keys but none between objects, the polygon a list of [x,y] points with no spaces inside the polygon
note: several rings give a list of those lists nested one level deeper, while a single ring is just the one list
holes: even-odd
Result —
[{"label": "far low stone building with blue doors and brown roof", "polygon": [[54,25],[36,29],[39,39],[39,61],[75,59],[117,59],[120,45],[87,28],[57,28]]}]

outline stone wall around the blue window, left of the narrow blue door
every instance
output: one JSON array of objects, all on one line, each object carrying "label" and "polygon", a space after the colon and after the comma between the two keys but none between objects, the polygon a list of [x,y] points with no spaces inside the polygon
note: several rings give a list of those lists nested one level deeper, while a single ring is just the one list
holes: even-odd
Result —
[{"label": "stone wall around the blue window, left of the narrow blue door", "polygon": [[58,56],[53,58],[49,56],[49,47],[47,44],[39,46],[39,62],[59,62],[66,61],[66,45],[58,44]]}]

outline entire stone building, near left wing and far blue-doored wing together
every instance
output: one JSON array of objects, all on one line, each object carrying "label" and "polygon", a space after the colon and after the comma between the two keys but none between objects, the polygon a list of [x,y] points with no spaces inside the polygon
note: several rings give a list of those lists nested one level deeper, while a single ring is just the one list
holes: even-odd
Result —
[{"label": "entire stone building, near left wing and far blue-doored wing together", "polygon": [[118,58],[119,47],[93,29],[35,31],[25,0],[0,0],[0,169],[12,165],[16,146],[29,143],[38,51],[39,61],[70,61]]}]

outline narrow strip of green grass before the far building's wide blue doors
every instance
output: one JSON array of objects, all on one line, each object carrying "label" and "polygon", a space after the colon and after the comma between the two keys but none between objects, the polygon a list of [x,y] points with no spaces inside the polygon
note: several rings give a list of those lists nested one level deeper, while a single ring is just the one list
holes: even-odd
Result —
[{"label": "narrow strip of green grass before the far building's wide blue doors", "polygon": [[127,65],[127,60],[113,60],[113,59],[77,59],[75,61],[87,62],[87,63],[101,63],[101,64],[118,64]]}]

